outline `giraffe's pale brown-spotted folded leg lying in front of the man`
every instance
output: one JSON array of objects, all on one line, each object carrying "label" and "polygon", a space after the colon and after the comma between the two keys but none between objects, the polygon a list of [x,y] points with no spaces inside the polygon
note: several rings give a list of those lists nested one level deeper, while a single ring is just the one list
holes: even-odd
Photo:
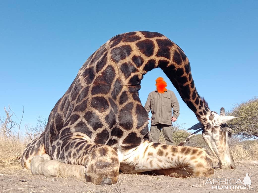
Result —
[{"label": "giraffe's pale brown-spotted folded leg lying in front of the man", "polygon": [[182,147],[143,142],[126,156],[120,156],[120,169],[125,173],[151,171],[171,177],[211,176],[211,157],[204,148]]}]

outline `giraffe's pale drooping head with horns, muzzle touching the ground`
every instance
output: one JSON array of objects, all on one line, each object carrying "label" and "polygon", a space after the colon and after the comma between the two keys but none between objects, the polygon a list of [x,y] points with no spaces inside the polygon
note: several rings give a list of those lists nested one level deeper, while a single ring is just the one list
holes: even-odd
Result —
[{"label": "giraffe's pale drooping head with horns, muzzle touching the ground", "polygon": [[203,126],[203,139],[219,159],[219,167],[221,169],[235,168],[235,162],[228,145],[231,137],[231,128],[227,125],[227,121],[235,118],[237,117],[226,116],[225,109],[222,107],[220,115],[215,111],[211,111],[209,116],[210,123],[206,127]]}]

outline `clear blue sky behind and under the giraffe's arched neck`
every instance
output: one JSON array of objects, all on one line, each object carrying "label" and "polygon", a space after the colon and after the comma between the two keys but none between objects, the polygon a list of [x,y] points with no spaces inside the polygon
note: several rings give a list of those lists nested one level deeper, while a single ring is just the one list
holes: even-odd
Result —
[{"label": "clear blue sky behind and under the giraffe's arched neck", "polygon": [[[111,37],[156,31],[190,60],[213,111],[258,95],[258,1],[0,1],[0,116],[9,104],[25,124],[47,118],[87,58]],[[165,78],[180,103],[177,123],[197,123],[163,71],[142,80],[144,105]]]}]

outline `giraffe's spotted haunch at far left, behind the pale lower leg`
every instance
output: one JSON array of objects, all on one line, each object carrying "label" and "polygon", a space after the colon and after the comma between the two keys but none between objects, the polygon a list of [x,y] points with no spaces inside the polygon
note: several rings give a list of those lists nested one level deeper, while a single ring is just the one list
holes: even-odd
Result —
[{"label": "giraffe's spotted haunch at far left, behind the pale lower leg", "polygon": [[33,157],[45,154],[44,132],[41,136],[28,144],[21,156],[21,166],[30,170],[30,162]]}]

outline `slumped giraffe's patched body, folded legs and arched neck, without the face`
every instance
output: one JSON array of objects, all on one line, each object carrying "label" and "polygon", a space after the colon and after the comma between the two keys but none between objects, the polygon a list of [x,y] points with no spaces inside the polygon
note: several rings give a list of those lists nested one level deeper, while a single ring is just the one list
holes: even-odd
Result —
[{"label": "slumped giraffe's patched body, folded legs and arched neck, without the face", "polygon": [[205,135],[222,129],[221,117],[197,93],[183,50],[157,32],[128,32],[111,38],[87,59],[50,112],[42,135],[27,145],[22,167],[44,174],[65,173],[77,165],[77,172],[69,175],[81,180],[83,173],[84,181],[100,185],[116,183],[119,170],[180,178],[213,175],[205,149],[148,141],[148,115],[138,91],[143,75],[158,67],[195,113]]}]

